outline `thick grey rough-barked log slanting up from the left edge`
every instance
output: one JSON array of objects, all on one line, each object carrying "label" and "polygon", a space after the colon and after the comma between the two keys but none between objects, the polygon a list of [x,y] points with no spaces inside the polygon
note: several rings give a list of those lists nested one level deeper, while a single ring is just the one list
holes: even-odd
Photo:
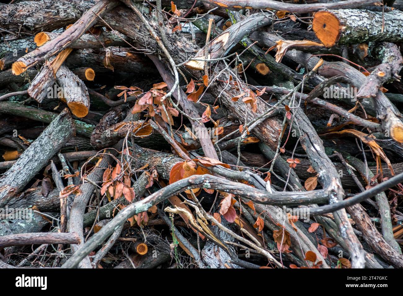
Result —
[{"label": "thick grey rough-barked log slanting up from the left edge", "polygon": [[6,205],[63,147],[75,132],[73,119],[63,110],[0,178],[0,206]]}]

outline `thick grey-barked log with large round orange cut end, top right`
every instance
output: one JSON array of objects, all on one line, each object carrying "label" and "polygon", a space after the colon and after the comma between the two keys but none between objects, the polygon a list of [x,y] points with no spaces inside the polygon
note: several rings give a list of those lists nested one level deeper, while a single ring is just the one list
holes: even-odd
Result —
[{"label": "thick grey-barked log with large round orange cut end, top right", "polygon": [[327,47],[368,41],[402,41],[403,12],[392,10],[382,13],[361,9],[318,11],[314,14],[312,29]]}]

